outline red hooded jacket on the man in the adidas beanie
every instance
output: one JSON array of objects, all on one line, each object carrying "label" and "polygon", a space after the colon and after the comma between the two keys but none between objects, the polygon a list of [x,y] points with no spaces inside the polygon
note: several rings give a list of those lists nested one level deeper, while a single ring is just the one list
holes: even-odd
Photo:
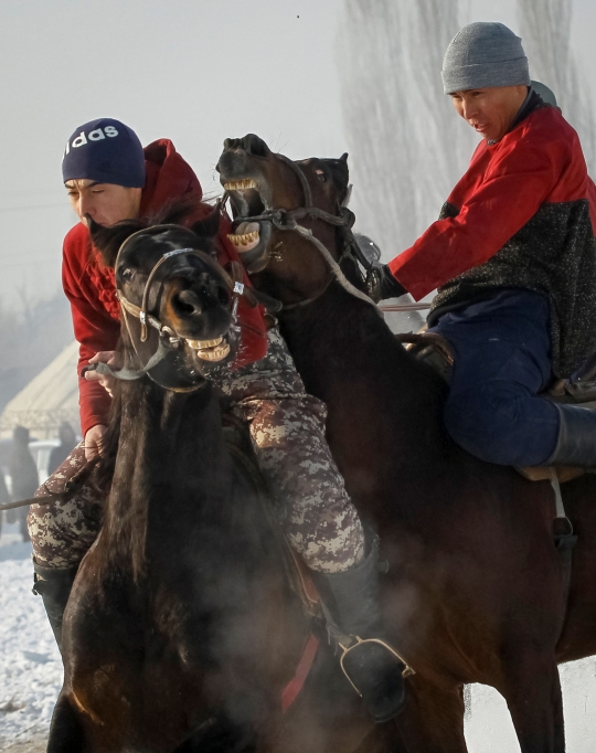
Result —
[{"label": "red hooded jacket on the man in the adidas beanie", "polygon": [[[168,139],[153,141],[145,149],[147,180],[141,194],[141,216],[159,212],[168,202],[181,197],[202,199],[201,184],[192,168],[180,157]],[[205,213],[212,208],[203,204]],[[224,225],[227,223],[224,223]],[[220,263],[240,261],[228,242],[228,229],[222,226],[219,237]],[[245,275],[245,284],[248,278]],[[100,350],[115,350],[120,335],[120,308],[115,296],[114,272],[102,265],[84,224],[75,225],[64,238],[62,283],[71,301],[75,338],[81,344],[78,390],[83,436],[97,424],[106,424],[110,397],[98,382],[88,382],[81,370]],[[242,342],[236,365],[245,365],[267,352],[267,336],[260,307],[251,309],[244,299],[238,306]]]}]

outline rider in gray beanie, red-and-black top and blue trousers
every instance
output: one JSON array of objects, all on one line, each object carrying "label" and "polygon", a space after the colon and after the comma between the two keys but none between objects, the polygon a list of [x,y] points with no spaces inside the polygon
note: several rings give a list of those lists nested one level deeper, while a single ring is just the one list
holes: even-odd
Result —
[{"label": "rider in gray beanie, red-and-black top and blue trousers", "polygon": [[445,424],[465,449],[594,468],[596,411],[541,396],[596,351],[596,188],[579,139],[502,23],[454,38],[443,84],[483,140],[439,220],[383,267],[379,296],[438,288],[428,325],[455,352]]}]

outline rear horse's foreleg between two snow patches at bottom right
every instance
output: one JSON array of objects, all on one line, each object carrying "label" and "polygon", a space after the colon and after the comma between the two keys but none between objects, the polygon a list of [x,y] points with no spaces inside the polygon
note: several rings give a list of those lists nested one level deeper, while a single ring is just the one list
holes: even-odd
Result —
[{"label": "rear horse's foreleg between two snow patches at bottom right", "polygon": [[564,753],[563,697],[554,657],[520,656],[498,690],[509,707],[522,753]]}]

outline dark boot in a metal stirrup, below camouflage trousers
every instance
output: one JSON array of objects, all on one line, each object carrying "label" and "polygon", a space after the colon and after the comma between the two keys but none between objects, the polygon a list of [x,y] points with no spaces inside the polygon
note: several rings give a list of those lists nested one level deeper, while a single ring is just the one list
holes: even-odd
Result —
[{"label": "dark boot in a metal stirrup, below camouflage trousers", "polygon": [[384,641],[379,606],[377,547],[343,573],[311,571],[342,669],[377,722],[396,717],[405,701],[406,665]]}]

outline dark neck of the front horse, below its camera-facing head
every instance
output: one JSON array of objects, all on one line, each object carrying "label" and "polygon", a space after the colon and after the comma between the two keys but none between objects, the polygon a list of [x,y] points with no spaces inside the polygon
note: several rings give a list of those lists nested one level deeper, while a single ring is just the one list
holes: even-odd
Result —
[{"label": "dark neck of the front horse, below its camera-facing head", "polygon": [[[124,383],[104,535],[138,576],[153,549],[188,537],[230,501],[233,468],[211,385],[193,393]],[[215,500],[215,501],[214,501]],[[158,552],[153,552],[156,554]]]}]

